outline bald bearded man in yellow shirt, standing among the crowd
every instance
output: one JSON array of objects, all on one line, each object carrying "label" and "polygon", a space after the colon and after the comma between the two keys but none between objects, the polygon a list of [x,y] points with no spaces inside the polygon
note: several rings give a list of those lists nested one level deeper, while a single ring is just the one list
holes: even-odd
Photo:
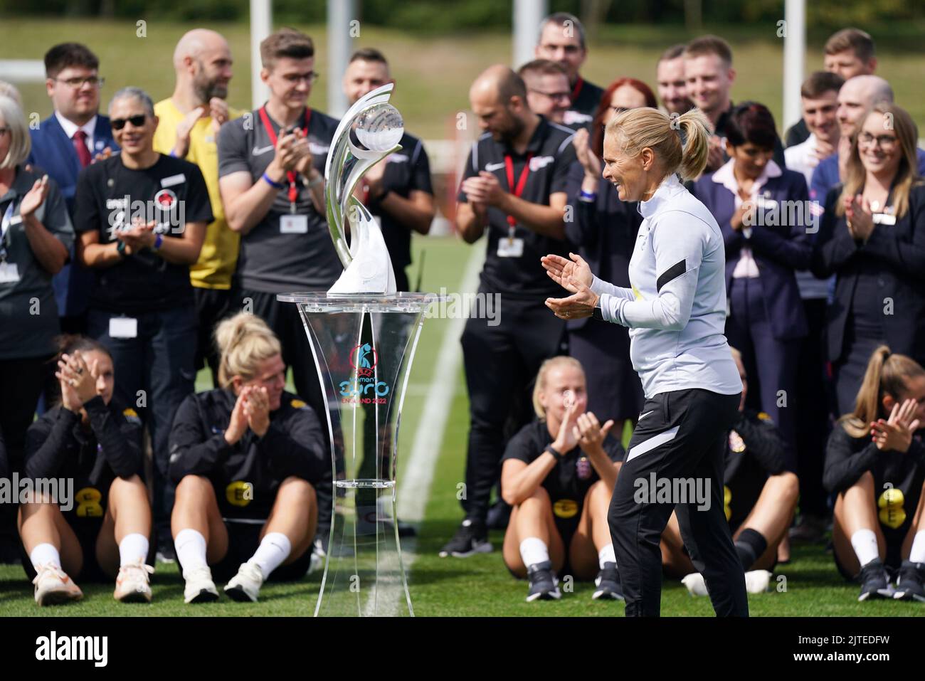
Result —
[{"label": "bald bearded man in yellow shirt, standing among the crowd", "polygon": [[215,220],[205,232],[199,260],[190,267],[190,280],[199,317],[196,369],[203,361],[217,386],[218,354],[212,330],[231,306],[231,278],[238,263],[240,236],[228,229],[218,193],[218,130],[240,111],[228,108],[231,50],[216,31],[194,29],[179,39],[174,50],[177,84],[173,96],[154,105],[160,119],[154,133],[154,150],[185,158],[203,173]]}]

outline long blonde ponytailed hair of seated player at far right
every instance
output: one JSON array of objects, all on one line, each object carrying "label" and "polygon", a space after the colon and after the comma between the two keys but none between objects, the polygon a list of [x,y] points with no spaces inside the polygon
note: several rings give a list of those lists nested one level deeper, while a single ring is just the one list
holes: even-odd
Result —
[{"label": "long blonde ponytailed hair of seated player at far right", "polygon": [[925,376],[925,369],[905,354],[892,354],[886,345],[879,346],[870,355],[860,390],[857,390],[855,411],[845,414],[839,421],[852,438],[870,435],[870,423],[886,417],[881,411],[884,394],[898,402],[906,394],[907,379]]}]

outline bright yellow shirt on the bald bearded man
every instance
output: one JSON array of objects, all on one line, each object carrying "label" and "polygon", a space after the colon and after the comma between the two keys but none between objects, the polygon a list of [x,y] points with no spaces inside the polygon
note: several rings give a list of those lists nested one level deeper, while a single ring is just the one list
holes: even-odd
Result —
[{"label": "bright yellow shirt on the bald bearded man", "polygon": [[[238,118],[243,111],[228,108],[228,119]],[[159,118],[154,132],[154,151],[169,154],[177,141],[177,126],[183,114],[168,97],[154,105],[154,116]],[[190,151],[186,160],[196,164],[203,173],[209,190],[209,203],[215,221],[205,231],[203,250],[199,260],[190,267],[190,281],[201,289],[231,288],[231,276],[238,265],[240,234],[228,228],[222,199],[218,193],[218,148],[212,130],[212,118],[200,118],[190,131]]]}]

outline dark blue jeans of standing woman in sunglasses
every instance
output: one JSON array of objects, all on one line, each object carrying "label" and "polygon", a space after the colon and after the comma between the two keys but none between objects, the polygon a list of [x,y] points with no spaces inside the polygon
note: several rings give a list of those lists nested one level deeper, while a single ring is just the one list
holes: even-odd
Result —
[{"label": "dark blue jeans of standing woman in sunglasses", "polygon": [[138,319],[135,338],[109,335],[109,320],[118,316],[122,315],[92,308],[87,314],[87,330],[113,355],[117,400],[138,412],[151,434],[154,528],[169,538],[174,486],[167,475],[167,442],[180,402],[195,390],[196,311],[189,304],[133,315]]}]

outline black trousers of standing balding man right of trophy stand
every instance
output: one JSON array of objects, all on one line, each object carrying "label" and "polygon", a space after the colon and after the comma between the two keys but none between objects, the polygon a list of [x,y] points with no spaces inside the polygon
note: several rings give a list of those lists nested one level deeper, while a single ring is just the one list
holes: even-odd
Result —
[{"label": "black trousers of standing balding man right of trophy stand", "polygon": [[491,488],[499,479],[508,419],[517,418],[515,429],[531,419],[524,407],[536,372],[544,360],[561,353],[565,337],[565,322],[542,299],[518,300],[502,293],[499,307],[499,324],[470,318],[462,332],[470,426],[460,501],[466,517],[479,523],[486,522]]}]

